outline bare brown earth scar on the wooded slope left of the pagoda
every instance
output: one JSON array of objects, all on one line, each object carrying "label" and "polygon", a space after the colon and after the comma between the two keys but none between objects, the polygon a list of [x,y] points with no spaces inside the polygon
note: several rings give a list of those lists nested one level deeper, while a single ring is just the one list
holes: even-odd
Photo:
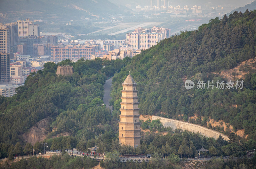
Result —
[{"label": "bare brown earth scar on the wooded slope left of the pagoda", "polygon": [[50,118],[44,118],[37,122],[36,125],[31,127],[27,133],[22,135],[25,142],[34,145],[36,142],[43,141],[48,134],[46,128],[49,126],[49,123]]}]

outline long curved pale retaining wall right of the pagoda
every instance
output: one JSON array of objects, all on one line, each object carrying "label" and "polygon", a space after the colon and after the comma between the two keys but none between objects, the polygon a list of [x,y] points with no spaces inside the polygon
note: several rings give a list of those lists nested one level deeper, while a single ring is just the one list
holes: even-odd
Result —
[{"label": "long curved pale retaining wall right of the pagoda", "polygon": [[159,117],[159,116],[152,116],[152,120],[160,119],[161,123],[164,127],[171,127],[174,131],[175,129],[181,129],[181,130],[188,130],[192,132],[199,132],[200,134],[204,135],[205,137],[213,137],[217,139],[219,135],[221,135],[224,140],[228,140],[228,136],[225,136],[217,131],[208,129],[206,127],[192,124],[192,123],[186,123],[179,120],[173,120],[169,118]]}]

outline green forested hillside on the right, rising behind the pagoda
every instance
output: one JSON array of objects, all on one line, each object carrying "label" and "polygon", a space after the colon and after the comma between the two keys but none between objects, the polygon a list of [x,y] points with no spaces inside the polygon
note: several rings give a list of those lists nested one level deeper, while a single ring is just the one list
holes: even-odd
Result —
[{"label": "green forested hillside on the right, rising behind the pagoda", "polygon": [[[235,130],[244,129],[256,140],[256,73],[248,72],[243,88],[185,89],[185,80],[218,80],[219,72],[255,58],[256,11],[234,12],[211,19],[198,30],[182,32],[132,58],[125,70],[113,78],[112,104],[120,99],[121,83],[131,72],[138,84],[140,114],[156,114],[206,126],[209,117],[224,120]],[[213,72],[216,72],[213,74]],[[207,84],[206,84],[207,85]],[[206,86],[207,87],[207,86]],[[116,101],[119,102],[119,101]],[[160,114],[160,112],[163,112]],[[183,115],[183,116],[179,116]]]}]

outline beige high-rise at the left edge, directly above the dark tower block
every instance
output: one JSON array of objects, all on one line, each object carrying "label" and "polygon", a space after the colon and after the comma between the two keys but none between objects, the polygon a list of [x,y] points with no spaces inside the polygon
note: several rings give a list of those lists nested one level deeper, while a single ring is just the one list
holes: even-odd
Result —
[{"label": "beige high-rise at the left edge, directly above the dark tower block", "polygon": [[0,25],[0,53],[10,53],[11,31],[10,28]]}]

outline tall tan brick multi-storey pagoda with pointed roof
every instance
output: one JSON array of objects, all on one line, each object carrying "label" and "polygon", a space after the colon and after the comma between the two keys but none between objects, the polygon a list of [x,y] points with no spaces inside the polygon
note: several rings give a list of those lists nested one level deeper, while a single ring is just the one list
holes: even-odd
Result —
[{"label": "tall tan brick multi-storey pagoda with pointed roof", "polygon": [[119,122],[119,141],[124,145],[138,147],[140,145],[139,102],[137,84],[129,74],[122,90],[121,115]]}]

